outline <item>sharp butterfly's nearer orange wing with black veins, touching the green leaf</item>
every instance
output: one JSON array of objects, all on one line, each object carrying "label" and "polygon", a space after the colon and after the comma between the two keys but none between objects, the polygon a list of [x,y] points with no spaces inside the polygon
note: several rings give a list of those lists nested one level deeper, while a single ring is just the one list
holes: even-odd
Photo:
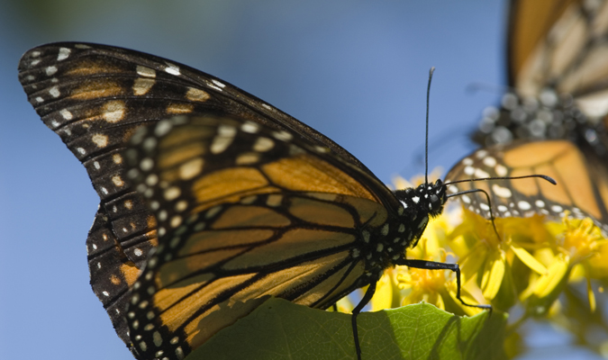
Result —
[{"label": "sharp butterfly's nearer orange wing with black veins, touching the green leaf", "polygon": [[269,295],[327,308],[369,282],[361,234],[382,231],[388,213],[327,148],[210,116],[133,141],[130,175],[159,209],[163,244],[128,310],[140,358],[180,358]]}]

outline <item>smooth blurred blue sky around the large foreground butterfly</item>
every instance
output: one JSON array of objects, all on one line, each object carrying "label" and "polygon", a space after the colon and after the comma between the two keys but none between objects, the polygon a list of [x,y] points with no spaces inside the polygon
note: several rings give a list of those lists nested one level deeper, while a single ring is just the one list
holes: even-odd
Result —
[{"label": "smooth blurred blue sky around the large foreground butterfly", "polygon": [[82,40],[199,68],[322,131],[389,182],[423,170],[414,154],[431,66],[430,167],[447,170],[473,148],[467,130],[499,94],[466,88],[504,85],[505,20],[500,0],[0,0],[1,356],[132,359],[88,284],[98,198],[26,100],[25,50]]}]

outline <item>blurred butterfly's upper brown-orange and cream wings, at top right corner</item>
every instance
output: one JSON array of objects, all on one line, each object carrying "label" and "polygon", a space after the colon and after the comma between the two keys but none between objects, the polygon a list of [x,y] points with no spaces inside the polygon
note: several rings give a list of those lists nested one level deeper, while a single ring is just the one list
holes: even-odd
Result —
[{"label": "blurred butterfly's upper brown-orange and cream wings, at top right corner", "polygon": [[552,85],[558,94],[571,94],[586,114],[605,115],[605,100],[591,103],[608,90],[606,16],[604,1],[514,1],[507,43],[510,85],[535,97]]}]

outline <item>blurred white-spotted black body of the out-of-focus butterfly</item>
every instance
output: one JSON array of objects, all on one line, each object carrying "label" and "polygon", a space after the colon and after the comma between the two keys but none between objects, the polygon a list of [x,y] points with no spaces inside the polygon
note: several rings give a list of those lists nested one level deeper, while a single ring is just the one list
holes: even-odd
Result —
[{"label": "blurred white-spotted black body of the out-of-focus butterfly", "polygon": [[559,95],[547,87],[538,97],[504,94],[500,109],[490,106],[484,110],[473,140],[492,146],[515,139],[567,139],[605,158],[608,154],[601,141],[603,132],[603,123],[585,116],[570,94]]}]

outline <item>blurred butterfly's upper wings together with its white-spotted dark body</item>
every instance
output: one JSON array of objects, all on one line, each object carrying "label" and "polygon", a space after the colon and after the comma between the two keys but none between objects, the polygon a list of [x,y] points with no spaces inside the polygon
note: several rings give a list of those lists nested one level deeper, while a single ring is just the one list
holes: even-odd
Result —
[{"label": "blurred butterfly's upper wings together with its white-spotted dark body", "polygon": [[567,139],[608,161],[608,2],[513,1],[507,31],[510,91],[486,109],[473,139]]}]

